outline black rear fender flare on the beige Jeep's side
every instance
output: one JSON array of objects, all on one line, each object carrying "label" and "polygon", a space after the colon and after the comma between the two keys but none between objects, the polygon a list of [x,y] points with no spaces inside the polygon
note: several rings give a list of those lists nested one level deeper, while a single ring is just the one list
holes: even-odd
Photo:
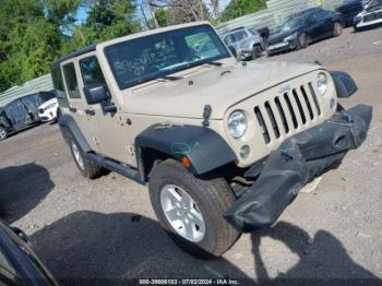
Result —
[{"label": "black rear fender flare on the beige Jeep's side", "polygon": [[58,119],[58,123],[60,126],[62,136],[67,142],[70,139],[73,139],[75,144],[83,153],[92,151],[92,147],[88,145],[73,117],[69,115],[61,115]]}]

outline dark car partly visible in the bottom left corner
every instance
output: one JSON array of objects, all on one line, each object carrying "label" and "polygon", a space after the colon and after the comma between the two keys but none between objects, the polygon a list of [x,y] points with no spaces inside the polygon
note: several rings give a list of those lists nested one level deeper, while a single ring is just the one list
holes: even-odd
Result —
[{"label": "dark car partly visible in the bottom left corner", "polygon": [[26,235],[1,221],[0,267],[1,285],[58,285],[27,243]]}]

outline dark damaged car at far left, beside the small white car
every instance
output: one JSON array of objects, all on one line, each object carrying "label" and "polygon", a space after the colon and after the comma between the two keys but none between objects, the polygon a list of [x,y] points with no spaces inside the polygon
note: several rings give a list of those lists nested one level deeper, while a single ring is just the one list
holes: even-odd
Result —
[{"label": "dark damaged car at far left, beside the small white car", "polygon": [[12,132],[39,122],[37,108],[51,95],[46,92],[27,95],[0,108],[0,141]]}]

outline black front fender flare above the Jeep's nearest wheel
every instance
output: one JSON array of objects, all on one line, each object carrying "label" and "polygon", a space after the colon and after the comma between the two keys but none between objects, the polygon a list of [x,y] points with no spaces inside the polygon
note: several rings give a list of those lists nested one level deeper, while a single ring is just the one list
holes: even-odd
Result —
[{"label": "black front fender flare above the Jeep's nearest wheel", "polygon": [[135,138],[135,152],[141,176],[144,174],[141,158],[145,148],[179,160],[189,158],[191,165],[188,170],[194,175],[206,174],[237,159],[234,151],[217,132],[198,126],[155,124],[139,134]]}]

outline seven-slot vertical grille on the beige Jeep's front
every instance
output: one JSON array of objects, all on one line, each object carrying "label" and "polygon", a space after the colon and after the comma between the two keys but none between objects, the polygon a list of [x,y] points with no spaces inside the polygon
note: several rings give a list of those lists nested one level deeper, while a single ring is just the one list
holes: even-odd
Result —
[{"label": "seven-slot vertical grille on the beige Jeep's front", "polygon": [[268,144],[273,139],[297,133],[321,115],[321,108],[312,83],[308,83],[255,106],[254,114]]}]

